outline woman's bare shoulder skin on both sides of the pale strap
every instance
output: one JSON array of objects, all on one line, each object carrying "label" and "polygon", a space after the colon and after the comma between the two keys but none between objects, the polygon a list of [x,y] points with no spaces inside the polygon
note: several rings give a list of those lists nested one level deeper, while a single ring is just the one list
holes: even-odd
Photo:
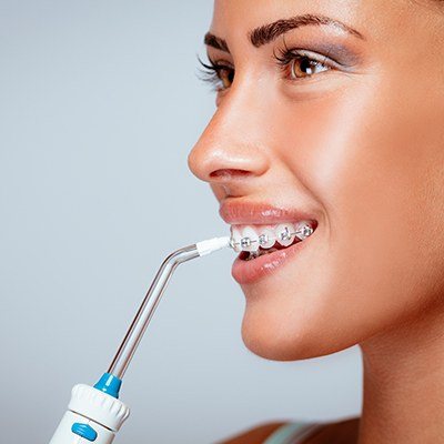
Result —
[{"label": "woman's bare shoulder skin on both sides of the pale strap", "polygon": [[[261,444],[284,422],[266,423],[249,428],[216,444]],[[304,441],[306,444],[356,444],[360,418],[321,424],[320,427]]]}]

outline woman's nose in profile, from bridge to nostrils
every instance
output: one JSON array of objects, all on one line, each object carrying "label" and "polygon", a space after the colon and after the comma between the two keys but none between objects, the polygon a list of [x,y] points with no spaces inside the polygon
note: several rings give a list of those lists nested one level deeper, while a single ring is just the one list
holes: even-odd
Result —
[{"label": "woman's nose in profile, from bridge to nostrils", "polygon": [[[232,87],[234,88],[234,87]],[[239,91],[238,91],[239,92]],[[223,99],[189,155],[190,170],[211,185],[226,191],[252,184],[269,169],[269,153],[262,132],[266,128],[245,94]],[[233,192],[234,193],[234,192]]]}]

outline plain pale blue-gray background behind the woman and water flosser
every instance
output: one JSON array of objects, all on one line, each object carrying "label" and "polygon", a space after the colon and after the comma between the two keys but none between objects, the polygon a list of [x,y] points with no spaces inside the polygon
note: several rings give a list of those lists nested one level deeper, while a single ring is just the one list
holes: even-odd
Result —
[{"label": "plain pale blue-gray background behind the woman and water flosser", "polygon": [[[162,258],[228,232],[186,168],[214,111],[196,75],[211,13],[209,0],[0,0],[4,443],[48,442]],[[232,259],[178,270],[127,374],[118,442],[211,443],[359,412],[357,349],[295,363],[244,349]]]}]

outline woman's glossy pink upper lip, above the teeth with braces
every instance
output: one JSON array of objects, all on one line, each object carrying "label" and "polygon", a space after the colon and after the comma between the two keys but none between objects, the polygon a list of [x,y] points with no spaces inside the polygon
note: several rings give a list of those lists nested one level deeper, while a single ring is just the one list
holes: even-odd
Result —
[{"label": "woman's glossy pink upper lip, above the teeth with braces", "polygon": [[281,222],[314,220],[299,209],[282,209],[263,202],[222,201],[219,214],[229,224],[268,225]]}]

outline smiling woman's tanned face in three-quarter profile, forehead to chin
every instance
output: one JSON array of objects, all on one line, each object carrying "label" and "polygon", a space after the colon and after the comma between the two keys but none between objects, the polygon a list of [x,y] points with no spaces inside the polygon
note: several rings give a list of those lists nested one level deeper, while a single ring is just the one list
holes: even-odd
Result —
[{"label": "smiling woman's tanned face in three-quarter profile, forehead to chin", "polygon": [[242,335],[254,353],[319,356],[440,310],[444,13],[436,8],[215,1],[218,39],[209,36],[206,49],[224,68],[191,170],[211,184],[238,238],[302,220],[315,228],[233,265],[246,299]]}]

